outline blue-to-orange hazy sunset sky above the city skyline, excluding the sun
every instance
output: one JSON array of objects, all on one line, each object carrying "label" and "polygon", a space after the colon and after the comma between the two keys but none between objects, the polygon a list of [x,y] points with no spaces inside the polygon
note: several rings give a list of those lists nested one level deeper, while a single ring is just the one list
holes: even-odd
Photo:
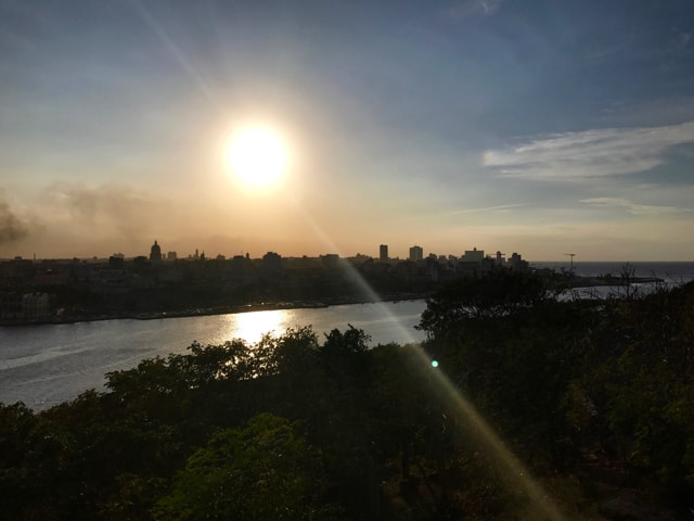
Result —
[{"label": "blue-to-orange hazy sunset sky above the city skyline, excluding the sun", "polygon": [[[0,0],[0,258],[694,260],[689,0]],[[288,164],[250,190],[230,140]]]}]

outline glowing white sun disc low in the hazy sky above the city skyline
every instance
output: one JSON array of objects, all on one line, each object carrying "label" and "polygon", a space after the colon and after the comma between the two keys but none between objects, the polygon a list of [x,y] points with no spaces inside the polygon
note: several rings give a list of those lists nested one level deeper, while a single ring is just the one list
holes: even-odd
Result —
[{"label": "glowing white sun disc low in the hazy sky above the city skyline", "polygon": [[237,132],[229,145],[228,160],[241,183],[252,190],[278,186],[288,168],[286,144],[266,127],[247,127]]}]

